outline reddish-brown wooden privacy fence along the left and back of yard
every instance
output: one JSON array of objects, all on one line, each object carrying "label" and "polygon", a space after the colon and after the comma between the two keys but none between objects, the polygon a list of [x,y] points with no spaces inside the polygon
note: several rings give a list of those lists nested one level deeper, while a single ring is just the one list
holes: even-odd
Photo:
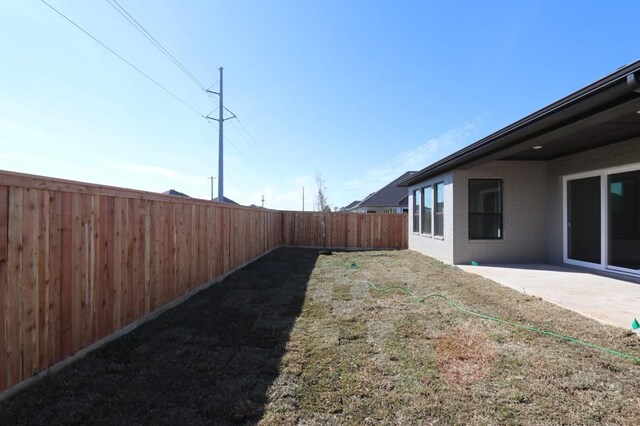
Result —
[{"label": "reddish-brown wooden privacy fence along the left and back of yard", "polygon": [[[279,246],[320,213],[0,171],[0,391]],[[332,248],[406,248],[406,215],[326,214]]]}]

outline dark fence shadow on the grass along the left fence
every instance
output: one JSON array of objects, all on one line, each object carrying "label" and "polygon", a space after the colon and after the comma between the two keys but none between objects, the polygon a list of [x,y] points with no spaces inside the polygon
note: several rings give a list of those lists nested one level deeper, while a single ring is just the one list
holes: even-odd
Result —
[{"label": "dark fence shadow on the grass along the left fence", "polygon": [[0,404],[10,424],[258,421],[317,250],[278,249]]}]

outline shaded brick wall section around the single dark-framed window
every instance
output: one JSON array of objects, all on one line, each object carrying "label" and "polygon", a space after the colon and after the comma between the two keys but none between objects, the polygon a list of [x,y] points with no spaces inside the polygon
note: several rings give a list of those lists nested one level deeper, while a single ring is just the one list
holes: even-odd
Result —
[{"label": "shaded brick wall section around the single dark-framed window", "polygon": [[[547,259],[548,164],[493,161],[453,175],[453,261],[535,263]],[[502,238],[469,239],[469,179],[502,179]]]}]

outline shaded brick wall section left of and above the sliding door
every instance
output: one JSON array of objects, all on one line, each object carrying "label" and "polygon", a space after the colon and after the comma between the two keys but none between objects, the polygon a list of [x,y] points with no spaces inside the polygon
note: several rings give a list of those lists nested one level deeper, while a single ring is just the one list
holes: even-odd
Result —
[{"label": "shaded brick wall section left of and above the sliding door", "polygon": [[640,138],[584,151],[549,162],[547,184],[549,224],[547,261],[563,263],[563,193],[562,177],[582,172],[640,163]]}]

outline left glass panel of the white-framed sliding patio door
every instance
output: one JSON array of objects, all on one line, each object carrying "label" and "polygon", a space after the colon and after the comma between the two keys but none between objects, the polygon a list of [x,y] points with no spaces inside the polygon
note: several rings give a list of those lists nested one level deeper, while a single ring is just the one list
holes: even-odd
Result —
[{"label": "left glass panel of the white-framed sliding patio door", "polygon": [[567,257],[601,263],[600,176],[567,181]]}]

